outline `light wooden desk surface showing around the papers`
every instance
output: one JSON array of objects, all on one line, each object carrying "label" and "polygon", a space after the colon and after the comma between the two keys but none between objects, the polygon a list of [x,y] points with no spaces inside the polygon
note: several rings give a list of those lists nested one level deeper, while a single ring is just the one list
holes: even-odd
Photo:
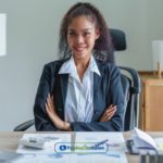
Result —
[{"label": "light wooden desk surface showing around the papers", "polygon": [[[18,140],[23,136],[23,131],[8,131],[8,133],[0,133],[0,150],[10,150],[15,151],[18,146]],[[58,133],[55,133],[58,134]],[[64,133],[63,133],[64,134]],[[74,141],[74,134],[71,133],[72,141]],[[153,138],[156,137],[163,137],[163,131],[155,131],[155,133],[149,133]],[[123,134],[125,139],[128,139],[131,135],[130,131],[126,131]],[[128,163],[139,163],[139,156],[138,155],[130,155],[127,154]]]}]

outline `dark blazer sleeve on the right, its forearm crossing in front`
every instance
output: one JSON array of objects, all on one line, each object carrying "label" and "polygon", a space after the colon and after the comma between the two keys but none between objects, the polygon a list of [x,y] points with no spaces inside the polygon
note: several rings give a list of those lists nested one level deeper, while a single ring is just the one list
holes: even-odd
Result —
[{"label": "dark blazer sleeve on the right, its forearm crossing in front", "polygon": [[[71,123],[72,130],[75,131],[122,131],[124,120],[124,93],[121,84],[121,72],[114,66],[111,71],[109,95],[111,97],[111,104],[116,104],[116,113],[108,122],[73,122]],[[99,117],[100,118],[100,117]]]}]

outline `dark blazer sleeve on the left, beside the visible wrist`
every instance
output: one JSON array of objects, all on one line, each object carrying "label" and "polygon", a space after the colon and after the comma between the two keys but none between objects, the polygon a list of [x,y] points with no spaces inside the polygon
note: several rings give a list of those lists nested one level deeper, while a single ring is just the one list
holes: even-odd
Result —
[{"label": "dark blazer sleeve on the left, beside the visible wrist", "polygon": [[49,116],[46,113],[46,101],[48,93],[51,92],[53,85],[51,67],[45,65],[39,86],[36,93],[35,104],[34,104],[34,115],[35,115],[35,127],[36,130],[57,130],[58,128],[52,124]]}]

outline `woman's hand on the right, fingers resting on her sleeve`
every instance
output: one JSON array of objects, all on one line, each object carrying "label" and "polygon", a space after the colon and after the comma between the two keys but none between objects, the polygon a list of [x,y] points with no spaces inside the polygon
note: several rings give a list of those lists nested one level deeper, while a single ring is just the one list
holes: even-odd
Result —
[{"label": "woman's hand on the right, fingers resting on her sleeve", "polygon": [[106,122],[110,121],[112,118],[112,116],[114,115],[114,113],[116,112],[116,105],[111,104],[105,112],[103,113],[103,115],[100,118],[100,122]]}]

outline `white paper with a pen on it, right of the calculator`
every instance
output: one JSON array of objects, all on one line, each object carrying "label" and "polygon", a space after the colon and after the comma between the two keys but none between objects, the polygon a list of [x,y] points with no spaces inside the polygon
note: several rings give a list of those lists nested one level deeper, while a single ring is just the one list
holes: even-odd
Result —
[{"label": "white paper with a pen on it, right of the calculator", "polygon": [[108,143],[109,151],[126,151],[125,139],[122,133],[117,131],[78,131],[76,133],[75,143]]}]

